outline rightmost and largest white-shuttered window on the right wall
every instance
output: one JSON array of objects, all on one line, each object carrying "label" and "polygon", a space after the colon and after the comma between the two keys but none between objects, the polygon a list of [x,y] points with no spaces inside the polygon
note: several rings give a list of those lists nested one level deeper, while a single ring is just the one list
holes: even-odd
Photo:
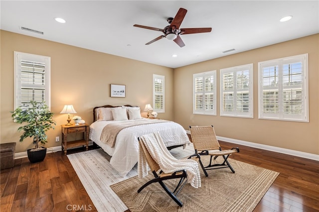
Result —
[{"label": "rightmost and largest white-shuttered window on the right wall", "polygon": [[258,63],[259,118],[309,122],[308,54]]}]

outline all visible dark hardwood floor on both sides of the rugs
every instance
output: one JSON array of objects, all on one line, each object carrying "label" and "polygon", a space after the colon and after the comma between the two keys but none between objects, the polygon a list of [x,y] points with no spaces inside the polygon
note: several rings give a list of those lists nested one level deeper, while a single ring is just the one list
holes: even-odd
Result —
[{"label": "all visible dark hardwood floor on both sides of the rugs", "polygon": [[[319,212],[318,161],[227,142],[220,145],[240,148],[233,159],[280,172],[254,212]],[[83,148],[68,154],[78,151]],[[16,159],[15,166],[0,175],[1,212],[96,211],[63,151],[48,153],[35,164]]]}]

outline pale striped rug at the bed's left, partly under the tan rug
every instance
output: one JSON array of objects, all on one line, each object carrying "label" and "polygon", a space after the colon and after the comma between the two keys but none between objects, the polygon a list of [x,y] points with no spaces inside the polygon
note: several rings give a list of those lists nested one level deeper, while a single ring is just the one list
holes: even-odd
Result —
[{"label": "pale striped rug at the bed's left, partly under the tan rug", "polygon": [[126,205],[110,188],[112,184],[137,176],[137,166],[121,177],[110,164],[103,149],[67,155],[98,212],[124,212]]}]

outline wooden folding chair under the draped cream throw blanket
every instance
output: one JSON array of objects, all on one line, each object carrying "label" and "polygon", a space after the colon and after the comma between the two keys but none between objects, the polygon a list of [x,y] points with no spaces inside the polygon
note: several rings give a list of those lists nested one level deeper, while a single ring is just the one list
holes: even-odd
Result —
[{"label": "wooden folding chair under the draped cream throw blanket", "polygon": [[[173,173],[164,173],[161,171],[159,164],[152,158],[150,155],[147,147],[145,146],[144,142],[145,141],[142,137],[138,138],[139,140],[139,146],[140,146],[140,151],[143,151],[143,154],[146,157],[147,163],[154,175],[154,179],[148,181],[145,183],[139,190],[138,193],[140,193],[145,187],[149,186],[152,183],[159,183],[160,186],[164,189],[164,191],[169,195],[171,199],[173,199],[178,206],[182,207],[183,203],[176,197],[177,194],[180,192],[180,190],[183,188],[183,186],[187,183],[187,175],[185,170],[179,170]],[[199,155],[195,155],[197,157],[197,161],[199,160]],[[196,161],[196,158],[191,158]],[[182,159],[181,159],[182,160]],[[173,192],[171,192],[167,186],[163,183],[165,180],[169,179],[180,179],[179,182],[177,183],[175,189]]]}]

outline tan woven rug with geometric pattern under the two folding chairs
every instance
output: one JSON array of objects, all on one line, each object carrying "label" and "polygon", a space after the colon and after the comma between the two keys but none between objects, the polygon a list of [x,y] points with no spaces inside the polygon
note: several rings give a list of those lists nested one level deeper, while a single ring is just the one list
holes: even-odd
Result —
[{"label": "tan woven rug with geometric pattern under the two folding chairs", "polygon": [[[208,158],[202,156],[204,165],[208,164]],[[144,183],[154,178],[153,174],[142,179],[136,176],[111,188],[131,212],[251,212],[279,173],[232,159],[228,161],[235,173],[229,168],[216,169],[209,170],[208,177],[205,177],[201,170],[202,186],[195,189],[187,183],[177,195],[183,203],[182,207],[178,207],[159,183],[151,184],[137,193]],[[177,182],[165,184],[171,189],[173,183]]]}]

